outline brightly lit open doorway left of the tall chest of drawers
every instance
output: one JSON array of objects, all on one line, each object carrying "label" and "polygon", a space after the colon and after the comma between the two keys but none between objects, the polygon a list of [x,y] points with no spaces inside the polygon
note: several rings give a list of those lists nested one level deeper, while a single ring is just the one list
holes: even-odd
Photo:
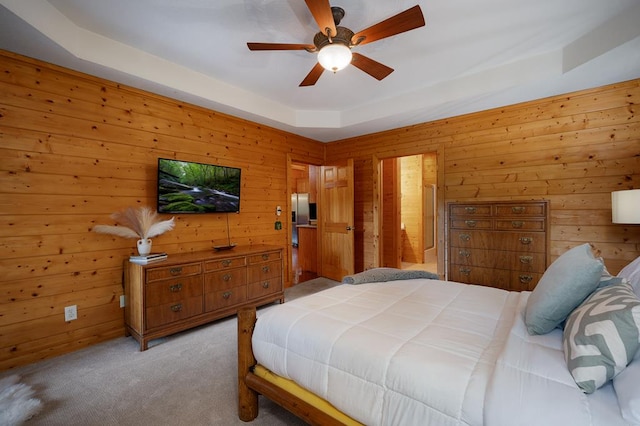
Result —
[{"label": "brightly lit open doorway left of the tall chest of drawers", "polygon": [[380,161],[380,265],[436,272],[436,153]]}]

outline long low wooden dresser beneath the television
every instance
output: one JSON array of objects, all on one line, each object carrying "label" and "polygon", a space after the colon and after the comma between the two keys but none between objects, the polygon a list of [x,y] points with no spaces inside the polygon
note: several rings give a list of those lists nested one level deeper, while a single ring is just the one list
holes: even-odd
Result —
[{"label": "long low wooden dresser beneath the television", "polygon": [[148,342],[235,315],[242,306],[284,302],[282,248],[266,245],[169,255],[124,265],[125,327]]}]

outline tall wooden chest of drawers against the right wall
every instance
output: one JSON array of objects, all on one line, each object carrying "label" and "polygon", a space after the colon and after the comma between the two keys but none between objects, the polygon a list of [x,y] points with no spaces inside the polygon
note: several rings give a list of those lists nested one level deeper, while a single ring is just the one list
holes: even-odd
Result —
[{"label": "tall wooden chest of drawers against the right wall", "polygon": [[548,201],[448,204],[448,279],[533,290],[549,262]]}]

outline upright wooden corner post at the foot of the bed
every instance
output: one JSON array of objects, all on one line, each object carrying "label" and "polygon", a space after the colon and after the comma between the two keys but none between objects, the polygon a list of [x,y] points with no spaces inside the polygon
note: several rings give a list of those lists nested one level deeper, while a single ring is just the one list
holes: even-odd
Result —
[{"label": "upright wooden corner post at the foot of the bed", "polygon": [[256,364],[251,348],[251,335],[255,323],[255,307],[238,310],[238,417],[245,422],[258,417],[258,393],[245,383],[250,368]]}]

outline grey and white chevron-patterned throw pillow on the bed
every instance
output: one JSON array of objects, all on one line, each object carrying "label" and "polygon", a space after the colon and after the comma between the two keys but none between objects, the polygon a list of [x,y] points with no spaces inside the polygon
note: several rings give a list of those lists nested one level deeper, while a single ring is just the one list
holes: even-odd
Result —
[{"label": "grey and white chevron-patterned throw pillow on the bed", "polygon": [[585,393],[620,373],[640,346],[640,300],[627,283],[595,291],[564,329],[564,358]]}]

